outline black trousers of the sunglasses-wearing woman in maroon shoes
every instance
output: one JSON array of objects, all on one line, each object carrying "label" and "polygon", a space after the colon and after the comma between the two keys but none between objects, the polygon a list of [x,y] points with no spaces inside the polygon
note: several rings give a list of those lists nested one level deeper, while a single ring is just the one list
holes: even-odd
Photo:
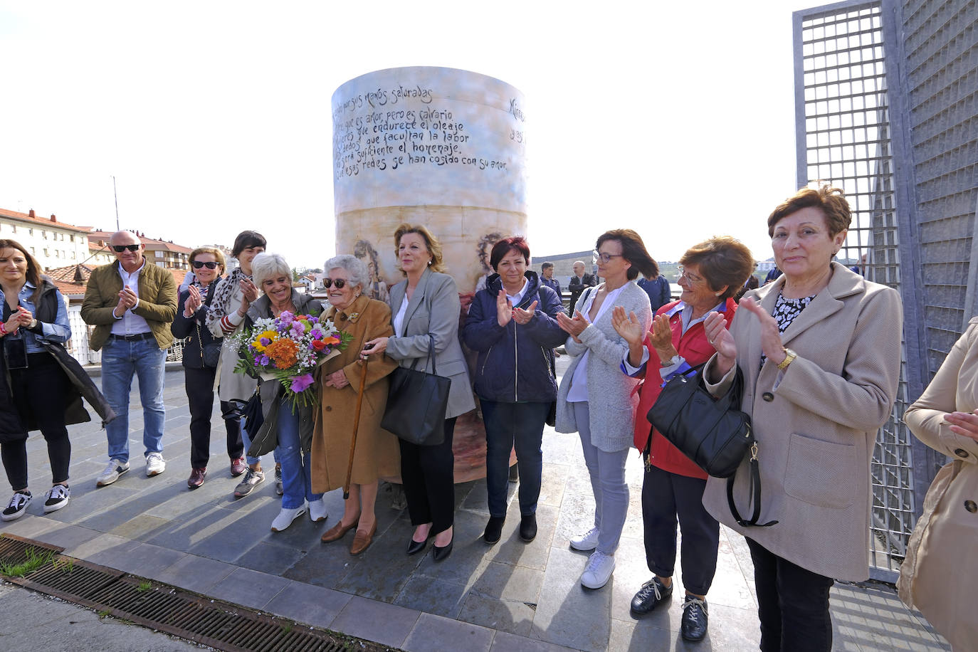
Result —
[{"label": "black trousers of the sunglasses-wearing woman in maroon shoes", "polygon": [[[190,465],[204,468],[210,459],[210,413],[214,409],[214,376],[217,369],[184,368],[184,387],[190,405]],[[221,401],[221,414],[228,433],[228,456],[244,456],[241,413],[228,401]]]}]

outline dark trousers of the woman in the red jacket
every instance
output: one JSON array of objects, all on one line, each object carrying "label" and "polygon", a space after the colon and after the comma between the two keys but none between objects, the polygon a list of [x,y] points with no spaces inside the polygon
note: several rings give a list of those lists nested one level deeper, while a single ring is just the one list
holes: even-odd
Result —
[{"label": "dark trousers of the woman in the red jacket", "polygon": [[651,466],[642,483],[645,562],[659,577],[671,578],[676,567],[676,522],[683,529],[683,587],[706,595],[717,572],[720,524],[703,507],[706,480]]}]

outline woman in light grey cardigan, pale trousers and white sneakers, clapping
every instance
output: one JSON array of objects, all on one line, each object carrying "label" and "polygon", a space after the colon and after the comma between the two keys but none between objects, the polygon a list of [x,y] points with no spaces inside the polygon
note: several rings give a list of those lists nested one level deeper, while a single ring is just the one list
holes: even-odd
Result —
[{"label": "woman in light grey cardigan, pale trousers and white sneakers, clapping", "polygon": [[639,404],[639,379],[621,372],[628,342],[615,331],[611,315],[620,306],[626,314],[634,313],[647,331],[652,322],[648,295],[635,280],[640,272],[646,277],[659,274],[642,238],[631,229],[602,234],[595,255],[604,283],[584,290],[573,317],[556,315],[569,334],[565,346],[573,356],[557,392],[556,431],[579,433],[595,494],[594,527],[570,540],[575,550],[595,550],[581,575],[588,588],[603,587],[614,570],[628,511],[625,459]]}]

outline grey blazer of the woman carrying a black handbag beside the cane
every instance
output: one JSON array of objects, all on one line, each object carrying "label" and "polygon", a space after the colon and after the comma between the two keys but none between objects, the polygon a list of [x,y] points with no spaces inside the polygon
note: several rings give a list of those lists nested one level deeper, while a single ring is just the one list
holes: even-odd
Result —
[{"label": "grey blazer of the woman carrying a black handbag beside the cane", "polygon": [[[401,309],[401,301],[408,289],[402,281],[390,288],[391,320]],[[415,293],[408,302],[404,315],[404,335],[391,336],[387,340],[386,355],[400,363],[401,367],[425,367],[418,359],[427,360],[430,339],[434,335],[434,368],[438,375],[452,380],[448,395],[448,411],[451,418],[475,409],[472,385],[468,380],[468,366],[459,343],[459,315],[462,305],[455,280],[447,274],[424,270]],[[431,372],[431,365],[425,371]]]}]

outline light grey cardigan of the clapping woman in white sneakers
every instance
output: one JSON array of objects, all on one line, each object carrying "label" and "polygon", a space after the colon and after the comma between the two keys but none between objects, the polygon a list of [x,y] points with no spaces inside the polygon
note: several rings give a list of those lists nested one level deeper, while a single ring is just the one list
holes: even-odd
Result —
[{"label": "light grey cardigan of the clapping woman in white sneakers", "polygon": [[[585,289],[579,301],[583,301],[588,292],[597,291],[597,287]],[[635,282],[625,283],[614,305],[622,306],[626,313],[634,312],[645,330],[651,326],[652,311],[648,305],[648,295]],[[624,451],[632,446],[640,380],[621,371],[621,361],[628,353],[628,342],[611,326],[611,306],[597,322],[588,325],[578,339],[580,343],[575,342],[573,337],[567,337],[565,344],[573,360],[557,389],[556,431],[580,430],[574,409],[567,403],[567,392],[574,370],[581,363],[584,353],[590,351],[587,373],[591,443],[605,453]]]}]

